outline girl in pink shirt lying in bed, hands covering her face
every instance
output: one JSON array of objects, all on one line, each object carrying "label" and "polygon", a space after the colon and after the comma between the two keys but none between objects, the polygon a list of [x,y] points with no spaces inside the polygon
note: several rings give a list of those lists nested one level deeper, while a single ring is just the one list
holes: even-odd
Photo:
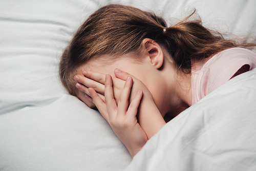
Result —
[{"label": "girl in pink shirt lying in bed, hands covering her face", "polygon": [[167,27],[155,14],[104,6],[62,54],[63,86],[96,105],[132,156],[166,123],[163,117],[256,67],[256,54],[245,49],[256,44],[224,39],[200,20],[189,21],[191,15]]}]

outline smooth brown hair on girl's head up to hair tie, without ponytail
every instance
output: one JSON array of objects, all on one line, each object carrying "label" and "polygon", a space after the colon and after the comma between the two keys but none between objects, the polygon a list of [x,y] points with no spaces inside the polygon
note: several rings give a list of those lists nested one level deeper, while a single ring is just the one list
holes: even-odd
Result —
[{"label": "smooth brown hair on girl's head up to hair tie, without ponytail", "polygon": [[98,9],[80,26],[62,54],[59,73],[63,85],[71,95],[77,95],[73,77],[79,67],[102,55],[114,60],[133,53],[139,58],[142,40],[162,41],[164,27],[162,18],[137,8],[108,5]]}]

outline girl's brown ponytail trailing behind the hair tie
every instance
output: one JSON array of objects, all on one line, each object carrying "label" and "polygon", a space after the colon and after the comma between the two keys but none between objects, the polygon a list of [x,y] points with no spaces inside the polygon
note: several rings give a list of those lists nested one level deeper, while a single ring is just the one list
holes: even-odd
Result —
[{"label": "girl's brown ponytail trailing behind the hair tie", "polygon": [[202,60],[225,49],[255,47],[256,44],[224,39],[219,32],[202,26],[201,19],[188,21],[196,10],[178,24],[165,29],[165,41],[161,41],[174,59],[177,68],[191,72],[191,59]]}]

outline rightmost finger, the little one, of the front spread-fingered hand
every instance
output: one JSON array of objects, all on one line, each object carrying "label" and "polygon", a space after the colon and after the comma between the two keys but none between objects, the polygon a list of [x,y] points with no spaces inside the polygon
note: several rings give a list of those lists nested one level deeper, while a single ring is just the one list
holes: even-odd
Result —
[{"label": "rightmost finger, the little one, of the front spread-fingered hand", "polygon": [[143,92],[139,90],[127,110],[126,116],[133,119],[136,117]]}]

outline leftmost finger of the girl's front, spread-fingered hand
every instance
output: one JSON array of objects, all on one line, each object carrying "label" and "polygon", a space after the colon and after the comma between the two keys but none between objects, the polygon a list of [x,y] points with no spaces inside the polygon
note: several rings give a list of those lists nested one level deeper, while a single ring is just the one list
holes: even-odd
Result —
[{"label": "leftmost finger of the girl's front, spread-fingered hand", "polygon": [[106,110],[106,104],[102,101],[102,99],[98,96],[94,89],[89,88],[89,93],[91,98],[93,99],[93,103],[96,105],[97,109],[101,113],[101,115],[106,119],[109,120],[108,110]]}]

